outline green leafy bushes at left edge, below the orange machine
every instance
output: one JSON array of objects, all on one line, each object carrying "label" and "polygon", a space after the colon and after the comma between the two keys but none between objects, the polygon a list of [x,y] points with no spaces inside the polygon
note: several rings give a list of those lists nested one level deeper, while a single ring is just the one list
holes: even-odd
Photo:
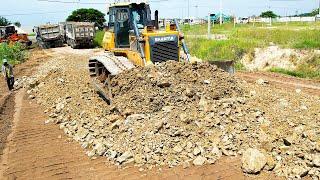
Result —
[{"label": "green leafy bushes at left edge, below the orange machine", "polygon": [[19,64],[27,58],[27,51],[19,43],[15,45],[0,44],[0,64],[7,59],[11,64]]}]

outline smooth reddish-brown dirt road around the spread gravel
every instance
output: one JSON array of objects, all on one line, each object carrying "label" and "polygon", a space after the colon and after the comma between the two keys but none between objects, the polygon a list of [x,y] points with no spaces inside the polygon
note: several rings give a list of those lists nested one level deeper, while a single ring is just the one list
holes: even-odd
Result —
[{"label": "smooth reddish-brown dirt road around the spread gravel", "polygon": [[[63,56],[65,53],[84,54],[81,58],[84,61],[88,55],[97,52],[69,48],[55,49],[53,53],[46,51],[42,58],[21,65],[19,68],[25,72],[20,75],[30,75],[32,68],[29,67],[37,67],[48,56]],[[240,77],[249,80],[251,76],[241,74]],[[266,77],[262,78],[269,80]],[[271,80],[275,78],[270,77]],[[254,81],[253,77],[251,79]],[[317,86],[313,82],[299,80],[301,83],[306,89]],[[310,91],[313,92],[316,91]],[[0,129],[5,127],[11,133],[1,155],[0,179],[275,179],[273,174],[244,175],[238,157],[224,157],[214,165],[187,169],[176,167],[139,171],[139,168],[131,166],[118,169],[105,158],[89,159],[81,146],[68,138],[57,125],[45,124],[48,117],[44,110],[34,101],[31,102],[24,90],[19,90],[6,102],[9,103],[5,103],[0,110]],[[4,119],[8,125],[3,125]]]}]

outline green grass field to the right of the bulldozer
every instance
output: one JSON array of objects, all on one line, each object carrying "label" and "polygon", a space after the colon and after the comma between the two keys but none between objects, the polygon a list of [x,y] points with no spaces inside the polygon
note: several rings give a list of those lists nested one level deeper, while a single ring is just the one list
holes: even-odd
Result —
[{"label": "green grass field to the right of the bulldozer", "polygon": [[[212,34],[223,34],[227,40],[209,40],[207,25],[185,25],[182,27],[191,54],[198,58],[215,60],[235,60],[238,69],[243,66],[239,60],[244,54],[253,53],[255,48],[278,45],[292,49],[320,49],[320,22],[316,23],[262,23],[214,25]],[[320,57],[300,65],[296,71],[273,68],[271,71],[296,77],[320,77]]]}]

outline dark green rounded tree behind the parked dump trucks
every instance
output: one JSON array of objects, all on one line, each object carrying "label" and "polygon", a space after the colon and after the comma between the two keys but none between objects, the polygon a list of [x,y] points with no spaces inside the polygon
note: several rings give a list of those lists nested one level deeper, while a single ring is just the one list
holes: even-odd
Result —
[{"label": "dark green rounded tree behind the parked dump trucks", "polygon": [[103,14],[99,10],[93,8],[82,8],[73,11],[72,14],[67,18],[67,21],[94,22],[96,26],[102,29],[103,23],[106,22],[106,19],[104,17],[105,14]]}]

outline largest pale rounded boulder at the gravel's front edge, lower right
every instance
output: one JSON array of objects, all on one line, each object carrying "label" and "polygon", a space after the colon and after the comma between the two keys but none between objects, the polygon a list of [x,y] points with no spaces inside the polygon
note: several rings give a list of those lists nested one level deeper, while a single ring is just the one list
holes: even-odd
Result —
[{"label": "largest pale rounded boulder at the gravel's front edge, lower right", "polygon": [[243,153],[242,169],[245,173],[259,173],[266,163],[266,157],[257,149],[249,148]]}]

